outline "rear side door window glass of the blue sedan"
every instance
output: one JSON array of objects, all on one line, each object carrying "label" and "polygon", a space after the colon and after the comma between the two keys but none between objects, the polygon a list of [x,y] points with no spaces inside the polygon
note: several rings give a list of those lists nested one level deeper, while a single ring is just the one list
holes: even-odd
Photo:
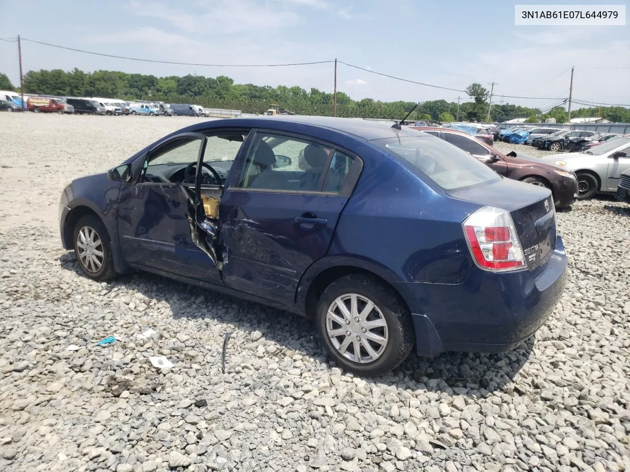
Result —
[{"label": "rear side door window glass of the blue sedan", "polygon": [[301,138],[256,133],[239,185],[242,188],[338,193],[353,158]]}]

